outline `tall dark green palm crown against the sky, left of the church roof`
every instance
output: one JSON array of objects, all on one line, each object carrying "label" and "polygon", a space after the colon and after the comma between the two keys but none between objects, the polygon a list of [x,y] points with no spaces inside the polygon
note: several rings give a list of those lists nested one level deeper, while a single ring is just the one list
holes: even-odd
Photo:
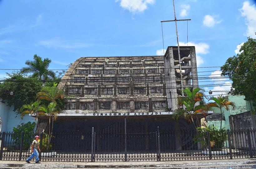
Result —
[{"label": "tall dark green palm crown against the sky, left of the church roof", "polygon": [[52,70],[48,70],[51,59],[45,58],[42,60],[40,56],[34,55],[34,60],[27,60],[25,62],[27,67],[22,68],[21,73],[33,73],[32,77],[37,77],[39,80],[47,80],[49,78],[55,78],[55,73]]}]

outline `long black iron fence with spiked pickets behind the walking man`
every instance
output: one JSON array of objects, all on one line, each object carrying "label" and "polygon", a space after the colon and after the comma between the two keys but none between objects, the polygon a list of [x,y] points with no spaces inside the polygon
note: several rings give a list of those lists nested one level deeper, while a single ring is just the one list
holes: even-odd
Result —
[{"label": "long black iron fence with spiked pickets behind the walking man", "polygon": [[[128,125],[127,125],[128,124]],[[1,133],[0,160],[26,160],[40,135],[40,160],[61,162],[176,161],[256,157],[256,130],[148,131],[121,120],[81,133]]]}]

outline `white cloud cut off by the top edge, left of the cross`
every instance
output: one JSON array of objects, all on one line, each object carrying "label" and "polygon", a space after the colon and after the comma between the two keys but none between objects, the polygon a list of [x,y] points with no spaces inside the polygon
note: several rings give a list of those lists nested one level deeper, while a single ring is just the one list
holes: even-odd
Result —
[{"label": "white cloud cut off by the top edge, left of the cross", "polygon": [[[116,0],[118,2],[119,0]],[[152,5],[155,0],[120,0],[120,6],[123,9],[127,9],[132,13],[143,12],[148,8],[148,5]]]}]

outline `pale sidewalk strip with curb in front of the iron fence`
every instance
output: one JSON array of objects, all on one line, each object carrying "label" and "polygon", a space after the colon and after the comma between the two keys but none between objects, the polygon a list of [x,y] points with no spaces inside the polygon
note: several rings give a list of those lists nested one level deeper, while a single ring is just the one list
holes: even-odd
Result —
[{"label": "pale sidewalk strip with curb in front of the iron fence", "polygon": [[25,161],[0,161],[0,169],[10,168],[134,168],[134,169],[243,169],[243,168],[256,168],[256,159],[224,159],[224,160],[200,160],[200,161],[167,161],[167,162],[41,162],[41,164],[30,164]]}]

